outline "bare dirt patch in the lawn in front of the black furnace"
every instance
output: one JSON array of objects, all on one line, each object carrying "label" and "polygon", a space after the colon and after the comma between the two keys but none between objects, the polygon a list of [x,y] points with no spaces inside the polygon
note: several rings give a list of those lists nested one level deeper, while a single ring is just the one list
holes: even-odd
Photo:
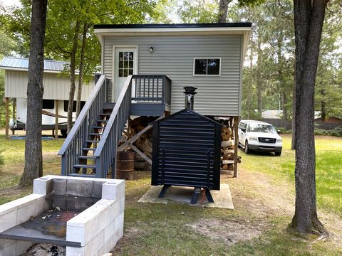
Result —
[{"label": "bare dirt patch in the lawn in front of the black furnace", "polygon": [[187,226],[212,240],[221,239],[231,245],[257,238],[268,225],[264,221],[201,219]]}]

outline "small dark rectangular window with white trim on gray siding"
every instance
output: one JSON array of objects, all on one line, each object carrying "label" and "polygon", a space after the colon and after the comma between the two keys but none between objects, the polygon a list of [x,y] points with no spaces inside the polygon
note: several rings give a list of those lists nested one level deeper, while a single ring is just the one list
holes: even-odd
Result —
[{"label": "small dark rectangular window with white trim on gray siding", "polygon": [[194,58],[194,75],[221,75],[221,58]]}]

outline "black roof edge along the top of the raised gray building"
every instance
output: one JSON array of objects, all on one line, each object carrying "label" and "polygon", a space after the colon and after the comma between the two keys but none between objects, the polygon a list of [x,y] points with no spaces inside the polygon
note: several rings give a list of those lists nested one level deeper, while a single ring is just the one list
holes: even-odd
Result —
[{"label": "black roof edge along the top of the raised gray building", "polygon": [[237,23],[182,23],[182,24],[95,24],[94,28],[229,28],[252,27],[250,22]]}]

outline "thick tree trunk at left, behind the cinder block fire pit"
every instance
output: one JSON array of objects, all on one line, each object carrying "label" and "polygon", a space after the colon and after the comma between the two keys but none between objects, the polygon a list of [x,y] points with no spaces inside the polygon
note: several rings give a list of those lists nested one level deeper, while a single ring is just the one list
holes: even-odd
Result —
[{"label": "thick tree trunk at left, behind the cinder block fire pit", "polygon": [[25,168],[20,185],[29,186],[43,176],[41,110],[43,107],[44,38],[47,0],[33,0],[30,58],[28,60]]}]

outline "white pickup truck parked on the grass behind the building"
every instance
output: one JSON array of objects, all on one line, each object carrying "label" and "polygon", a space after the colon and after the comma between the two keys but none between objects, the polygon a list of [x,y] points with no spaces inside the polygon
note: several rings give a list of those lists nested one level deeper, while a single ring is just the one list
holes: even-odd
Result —
[{"label": "white pickup truck parked on the grass behind the building", "polygon": [[283,148],[281,137],[272,124],[254,120],[241,120],[239,122],[239,146],[244,148],[246,154],[250,151],[274,152],[281,155]]}]

